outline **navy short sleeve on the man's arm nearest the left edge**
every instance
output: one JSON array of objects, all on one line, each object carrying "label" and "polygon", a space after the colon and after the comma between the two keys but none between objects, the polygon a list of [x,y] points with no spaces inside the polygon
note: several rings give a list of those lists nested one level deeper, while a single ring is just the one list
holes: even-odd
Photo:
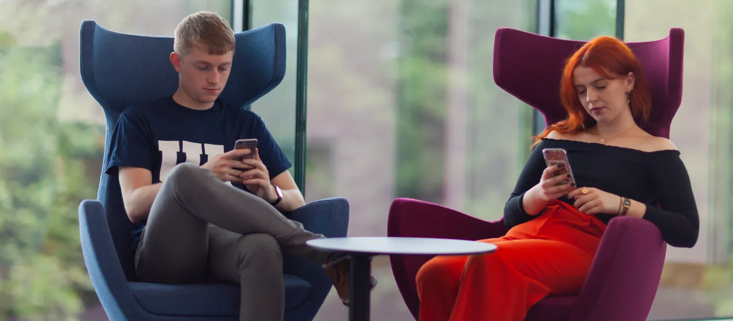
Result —
[{"label": "navy short sleeve on the man's arm nearest the left edge", "polygon": [[105,172],[117,176],[119,166],[139,167],[152,171],[155,148],[152,133],[145,125],[144,117],[127,111],[123,112],[114,125],[109,143]]}]

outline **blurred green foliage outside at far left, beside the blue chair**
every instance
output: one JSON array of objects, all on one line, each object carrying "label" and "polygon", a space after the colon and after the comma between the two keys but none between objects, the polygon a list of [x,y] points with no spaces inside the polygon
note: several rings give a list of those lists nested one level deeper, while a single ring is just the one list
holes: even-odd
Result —
[{"label": "blurred green foliage outside at far left, beside the blue chair", "polygon": [[[7,39],[7,37],[6,37]],[[61,124],[60,43],[0,48],[0,318],[73,320],[91,290],[78,238],[78,199],[95,183],[99,128]]]}]

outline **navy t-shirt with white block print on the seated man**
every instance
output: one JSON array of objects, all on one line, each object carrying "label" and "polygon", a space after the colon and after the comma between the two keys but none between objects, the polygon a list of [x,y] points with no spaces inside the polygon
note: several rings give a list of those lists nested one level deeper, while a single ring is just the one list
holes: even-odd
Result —
[{"label": "navy t-shirt with white block print on the seated man", "polygon": [[[177,164],[203,165],[209,158],[232,150],[237,139],[257,139],[259,158],[270,179],[292,166],[254,112],[221,100],[199,111],[165,97],[122,112],[112,133],[105,171],[117,177],[119,166],[139,167],[152,172],[153,184],[164,182]],[[248,191],[241,184],[233,185]],[[145,224],[136,224],[135,247]]]}]

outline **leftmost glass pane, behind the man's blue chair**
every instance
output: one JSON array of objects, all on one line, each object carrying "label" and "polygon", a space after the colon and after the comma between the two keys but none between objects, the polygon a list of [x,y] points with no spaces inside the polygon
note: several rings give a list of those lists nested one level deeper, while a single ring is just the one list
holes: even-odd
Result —
[{"label": "leftmost glass pane, behind the man's blue chair", "polygon": [[[172,35],[230,0],[6,0],[0,10],[0,320],[105,320],[81,255],[105,119],[79,77],[79,26]],[[124,66],[121,66],[124,67]]]}]

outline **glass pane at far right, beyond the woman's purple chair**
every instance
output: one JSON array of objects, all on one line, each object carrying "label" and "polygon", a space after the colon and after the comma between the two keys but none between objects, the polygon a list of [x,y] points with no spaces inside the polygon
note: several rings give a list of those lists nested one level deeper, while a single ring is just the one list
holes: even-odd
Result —
[{"label": "glass pane at far right, beyond the woman's purple chair", "polygon": [[652,319],[733,317],[732,13],[733,2],[725,0],[626,1],[627,41],[685,30],[684,95],[671,141],[690,172],[700,235],[692,249],[668,248]]}]

